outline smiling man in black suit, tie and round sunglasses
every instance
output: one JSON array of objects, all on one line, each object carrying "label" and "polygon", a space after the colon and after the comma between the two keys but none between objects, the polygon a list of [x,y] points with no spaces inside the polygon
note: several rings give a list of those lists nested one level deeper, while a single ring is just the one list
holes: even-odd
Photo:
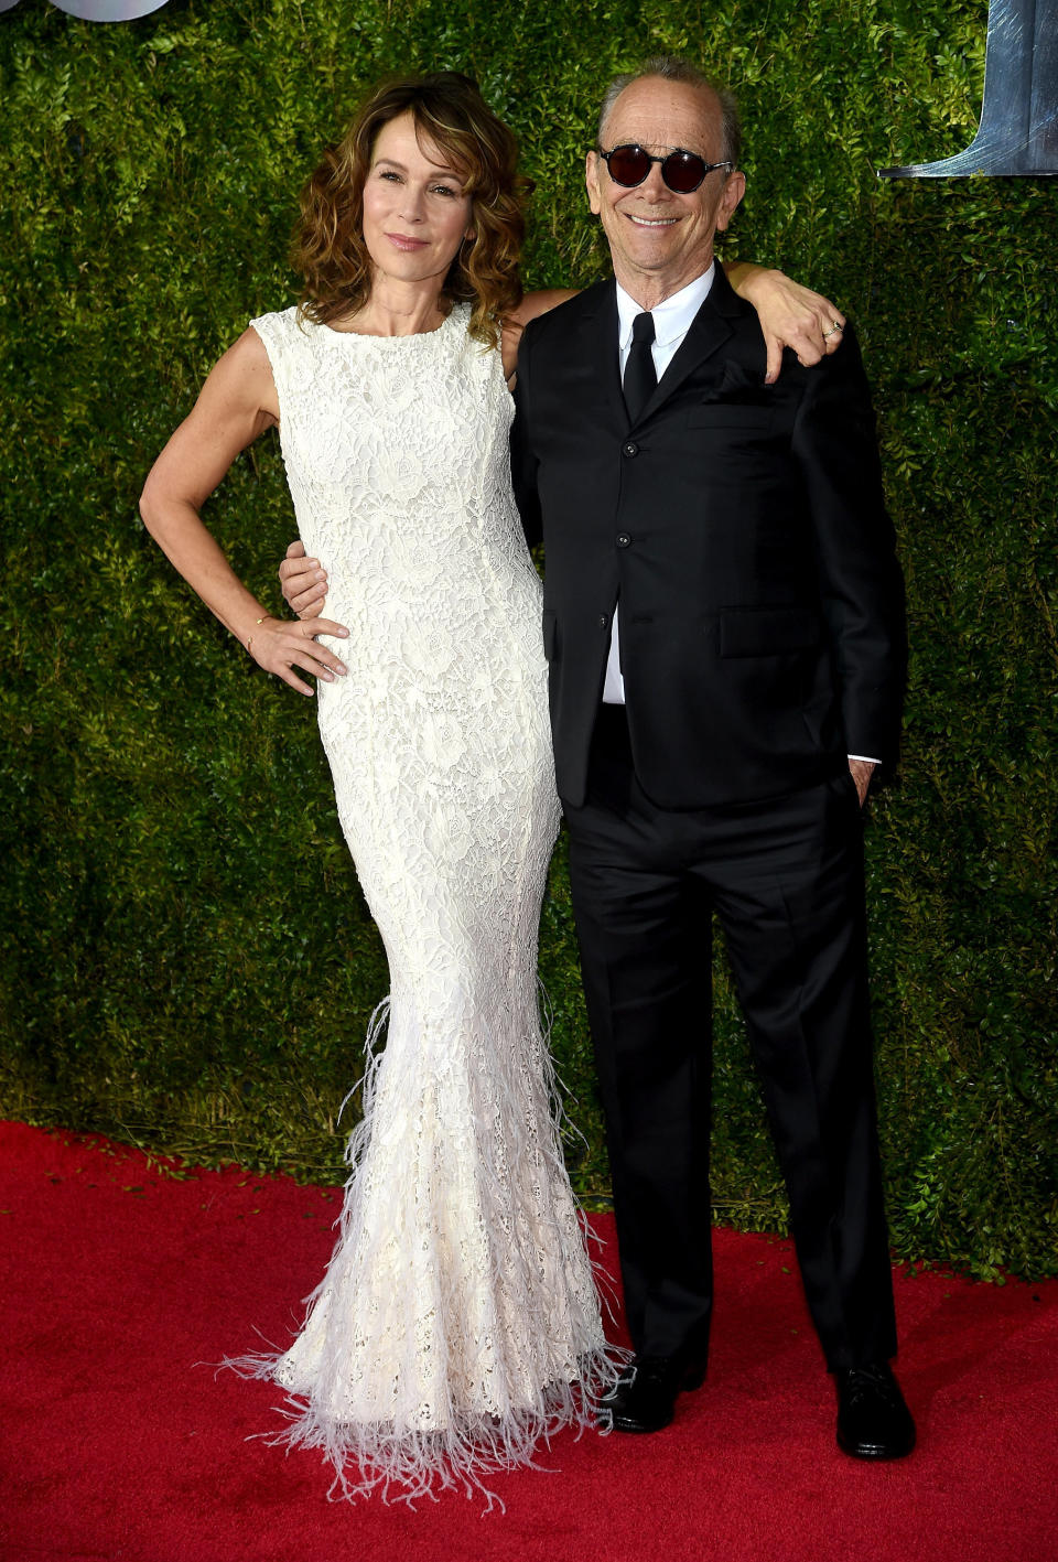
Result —
[{"label": "smiling man in black suit, tie and round sunglasses", "polygon": [[[733,102],[692,67],[616,81],[586,164],[614,278],[531,322],[519,355],[513,470],[545,545],[555,767],[636,1350],[605,1415],[658,1431],[705,1378],[716,911],[839,1445],[899,1457],[914,1423],[888,1365],[860,808],[895,758],[903,594],[852,333],[819,369],[788,353],[770,386],[756,317],[713,264],[745,189],[736,159]],[[284,567],[302,609],[303,569]]]}]

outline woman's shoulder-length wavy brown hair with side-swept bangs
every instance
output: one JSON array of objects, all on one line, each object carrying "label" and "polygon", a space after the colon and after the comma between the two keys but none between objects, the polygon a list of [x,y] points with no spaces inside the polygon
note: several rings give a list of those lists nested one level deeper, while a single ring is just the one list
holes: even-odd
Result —
[{"label": "woman's shoulder-length wavy brown hair with side-swept bangs", "polygon": [[470,336],[495,347],[503,317],[522,298],[517,262],[525,237],[524,201],[531,180],[517,172],[517,142],[470,77],[438,70],[383,83],[302,191],[292,261],[305,278],[300,312],[317,325],[363,308],[372,261],[364,244],[364,181],[378,131],[411,114],[464,181],[474,237],[449,267],[442,297],[472,303]]}]

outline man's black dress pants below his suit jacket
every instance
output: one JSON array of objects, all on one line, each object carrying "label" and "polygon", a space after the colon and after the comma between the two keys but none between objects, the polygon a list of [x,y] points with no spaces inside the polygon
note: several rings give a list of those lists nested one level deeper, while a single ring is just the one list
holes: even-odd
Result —
[{"label": "man's black dress pants below his suit jacket", "polygon": [[767,801],[656,808],[602,706],[570,887],[636,1351],[705,1359],[711,918],[727,939],[813,1321],[831,1371],[895,1354],[847,770]]}]

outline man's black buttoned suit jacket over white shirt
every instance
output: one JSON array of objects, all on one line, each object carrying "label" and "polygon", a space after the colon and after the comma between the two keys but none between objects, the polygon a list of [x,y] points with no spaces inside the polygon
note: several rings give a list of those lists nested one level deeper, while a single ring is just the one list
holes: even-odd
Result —
[{"label": "man's black buttoned suit jacket over white shirt", "polygon": [[722,269],[633,423],[617,295],[589,287],[522,337],[511,459],[545,550],[558,790],[580,804],[620,598],[636,773],[663,808],[783,795],[847,753],[891,765],[903,584],[852,330],[775,386]]}]

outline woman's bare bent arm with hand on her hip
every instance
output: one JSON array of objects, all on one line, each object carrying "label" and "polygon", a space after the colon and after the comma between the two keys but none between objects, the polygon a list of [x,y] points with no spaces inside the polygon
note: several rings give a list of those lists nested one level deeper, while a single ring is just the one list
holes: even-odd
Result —
[{"label": "woman's bare bent arm with hand on her hip", "polygon": [[344,673],[342,662],[313,636],[347,631],[325,619],[273,619],[238,578],[198,514],[239,451],[278,417],[264,344],[247,330],[213,369],[192,412],[150,469],[139,512],[169,561],[258,665],[311,695],[294,669],[328,683]]}]

